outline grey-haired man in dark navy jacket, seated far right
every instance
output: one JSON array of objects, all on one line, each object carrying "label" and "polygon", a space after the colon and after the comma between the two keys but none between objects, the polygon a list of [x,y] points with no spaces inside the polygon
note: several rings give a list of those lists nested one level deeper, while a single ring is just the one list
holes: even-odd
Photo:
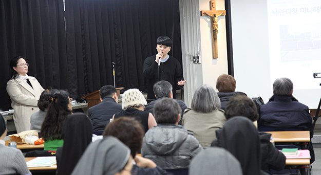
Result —
[{"label": "grey-haired man in dark navy jacket, seated far right", "polygon": [[278,78],[273,83],[273,96],[260,108],[258,127],[298,128],[311,130],[309,107],[292,96],[293,83],[289,78]]}]

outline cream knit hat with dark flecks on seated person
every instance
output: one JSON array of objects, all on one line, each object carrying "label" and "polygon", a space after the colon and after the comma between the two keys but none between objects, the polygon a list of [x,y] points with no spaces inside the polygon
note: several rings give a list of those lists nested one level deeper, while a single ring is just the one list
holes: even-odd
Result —
[{"label": "cream knit hat with dark flecks on seated person", "polygon": [[122,98],[122,108],[126,110],[130,106],[146,105],[147,101],[144,95],[138,89],[129,89],[124,92]]}]

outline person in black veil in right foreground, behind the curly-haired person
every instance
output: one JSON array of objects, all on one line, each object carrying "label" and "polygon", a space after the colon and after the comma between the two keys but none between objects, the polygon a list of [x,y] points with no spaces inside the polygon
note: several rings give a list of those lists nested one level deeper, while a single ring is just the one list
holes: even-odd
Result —
[{"label": "person in black veil in right foreground, behind the curly-haired person", "polygon": [[216,130],[212,144],[225,148],[240,162],[243,175],[267,174],[261,170],[260,139],[253,122],[246,117],[232,117]]}]

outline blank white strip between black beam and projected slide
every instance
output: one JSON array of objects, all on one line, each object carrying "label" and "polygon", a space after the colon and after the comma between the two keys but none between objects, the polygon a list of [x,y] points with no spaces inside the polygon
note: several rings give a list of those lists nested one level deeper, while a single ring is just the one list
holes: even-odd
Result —
[{"label": "blank white strip between black beam and projected slide", "polygon": [[231,0],[231,18],[236,91],[250,98],[261,96],[267,103],[273,95],[267,2]]}]

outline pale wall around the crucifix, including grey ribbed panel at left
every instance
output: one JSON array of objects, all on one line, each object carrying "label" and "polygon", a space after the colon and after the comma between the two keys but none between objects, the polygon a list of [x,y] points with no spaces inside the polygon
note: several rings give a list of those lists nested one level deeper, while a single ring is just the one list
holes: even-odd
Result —
[{"label": "pale wall around the crucifix, including grey ribbed panel at left", "polygon": [[[216,79],[228,73],[226,51],[225,16],[218,17],[218,58],[212,56],[212,24],[210,17],[200,16],[201,10],[210,10],[209,0],[179,0],[182,38],[184,101],[191,106],[196,89],[201,84],[216,86]],[[218,10],[225,9],[224,0],[216,1]],[[190,55],[199,53],[200,64],[195,64]]]}]

